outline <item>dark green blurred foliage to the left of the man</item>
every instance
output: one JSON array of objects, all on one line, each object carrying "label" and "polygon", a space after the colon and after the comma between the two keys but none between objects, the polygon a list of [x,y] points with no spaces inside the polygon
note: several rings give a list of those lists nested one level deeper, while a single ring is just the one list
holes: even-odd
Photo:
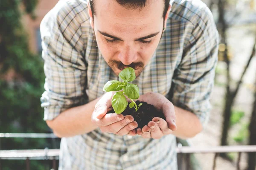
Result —
[{"label": "dark green blurred foliage to the left of the man", "polygon": [[[23,0],[25,11],[20,11],[20,0],[0,0],[0,77],[10,70],[15,72],[12,80],[0,79],[1,133],[50,132],[40,106],[45,79],[43,60],[29,51],[28,35],[20,21],[23,14],[33,15],[36,4],[37,0]],[[50,139],[0,140],[2,150],[52,147]],[[30,168],[44,170],[44,166],[38,162],[31,162]],[[25,169],[25,161],[2,160],[1,166],[4,170]]]}]

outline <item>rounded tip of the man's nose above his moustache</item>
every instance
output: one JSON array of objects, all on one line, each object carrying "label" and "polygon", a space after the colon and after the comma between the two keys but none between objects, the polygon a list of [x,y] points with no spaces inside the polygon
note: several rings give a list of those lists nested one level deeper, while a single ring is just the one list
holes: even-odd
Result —
[{"label": "rounded tip of the man's nose above his moustache", "polygon": [[132,62],[135,62],[138,59],[136,48],[131,48],[128,45],[122,48],[118,54],[118,59],[124,65],[130,65]]}]

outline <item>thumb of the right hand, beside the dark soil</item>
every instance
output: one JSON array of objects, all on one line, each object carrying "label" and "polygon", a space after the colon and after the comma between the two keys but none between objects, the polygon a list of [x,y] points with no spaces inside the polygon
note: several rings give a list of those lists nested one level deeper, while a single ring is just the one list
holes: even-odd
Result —
[{"label": "thumb of the right hand, beside the dark soil", "polygon": [[165,102],[163,104],[163,113],[166,116],[166,122],[168,123],[169,129],[172,131],[177,130],[175,110],[172,102]]}]

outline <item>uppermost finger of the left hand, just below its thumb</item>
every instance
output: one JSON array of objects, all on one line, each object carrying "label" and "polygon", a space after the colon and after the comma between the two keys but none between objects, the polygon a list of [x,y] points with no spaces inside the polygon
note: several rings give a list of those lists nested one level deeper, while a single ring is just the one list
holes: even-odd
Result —
[{"label": "uppermost finger of the left hand, just below its thumb", "polygon": [[93,118],[92,122],[98,126],[108,126],[124,119],[122,114],[108,113],[102,119]]}]

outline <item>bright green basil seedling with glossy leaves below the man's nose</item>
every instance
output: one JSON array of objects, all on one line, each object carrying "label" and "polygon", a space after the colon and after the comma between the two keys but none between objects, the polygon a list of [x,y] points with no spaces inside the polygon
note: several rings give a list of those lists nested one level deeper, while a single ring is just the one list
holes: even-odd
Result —
[{"label": "bright green basil seedling with glossy leaves below the man's nose", "polygon": [[125,96],[127,96],[131,100],[129,107],[134,107],[135,111],[137,111],[142,105],[142,103],[140,103],[137,106],[137,104],[134,102],[134,99],[139,99],[140,97],[139,88],[137,85],[128,83],[134,81],[134,79],[136,78],[134,69],[131,67],[125,68],[119,73],[118,77],[123,81],[119,82],[118,80],[110,80],[103,87],[103,91],[105,92],[118,91],[113,95],[113,98],[111,100],[114,111],[117,114],[125,111],[128,105]]}]

